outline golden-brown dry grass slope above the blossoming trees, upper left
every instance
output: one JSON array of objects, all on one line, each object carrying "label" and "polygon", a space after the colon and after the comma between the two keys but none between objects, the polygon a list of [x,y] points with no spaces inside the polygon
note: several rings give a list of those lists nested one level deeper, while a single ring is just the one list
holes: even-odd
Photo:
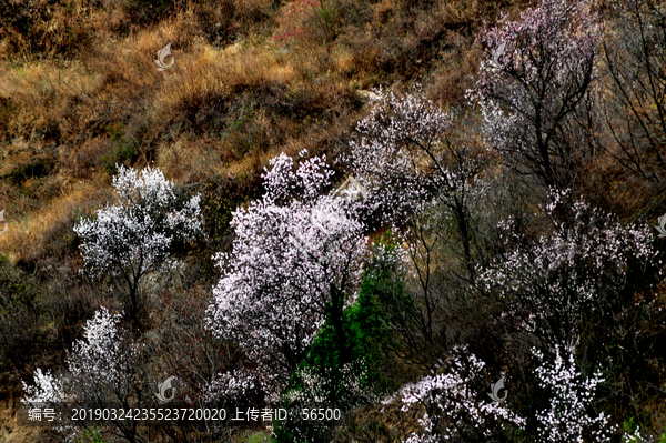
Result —
[{"label": "golden-brown dry grass slope above the blossoming trees, upper left", "polygon": [[[454,104],[475,70],[475,30],[508,6],[4,2],[0,251],[31,265],[49,256],[49,232],[103,200],[117,162],[179,183],[250,180],[275,152],[334,151],[363,112],[359,90],[423,83]],[[175,64],[159,72],[168,42]]]}]

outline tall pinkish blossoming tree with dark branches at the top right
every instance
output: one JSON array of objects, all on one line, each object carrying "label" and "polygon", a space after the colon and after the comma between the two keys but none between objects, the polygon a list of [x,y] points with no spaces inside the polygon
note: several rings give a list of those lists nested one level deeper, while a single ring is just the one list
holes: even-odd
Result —
[{"label": "tall pinkish blossoming tree with dark branches at the top right", "polygon": [[589,149],[591,84],[599,36],[588,1],[539,0],[518,21],[482,31],[481,78],[472,98],[486,135],[518,171],[567,188]]}]

